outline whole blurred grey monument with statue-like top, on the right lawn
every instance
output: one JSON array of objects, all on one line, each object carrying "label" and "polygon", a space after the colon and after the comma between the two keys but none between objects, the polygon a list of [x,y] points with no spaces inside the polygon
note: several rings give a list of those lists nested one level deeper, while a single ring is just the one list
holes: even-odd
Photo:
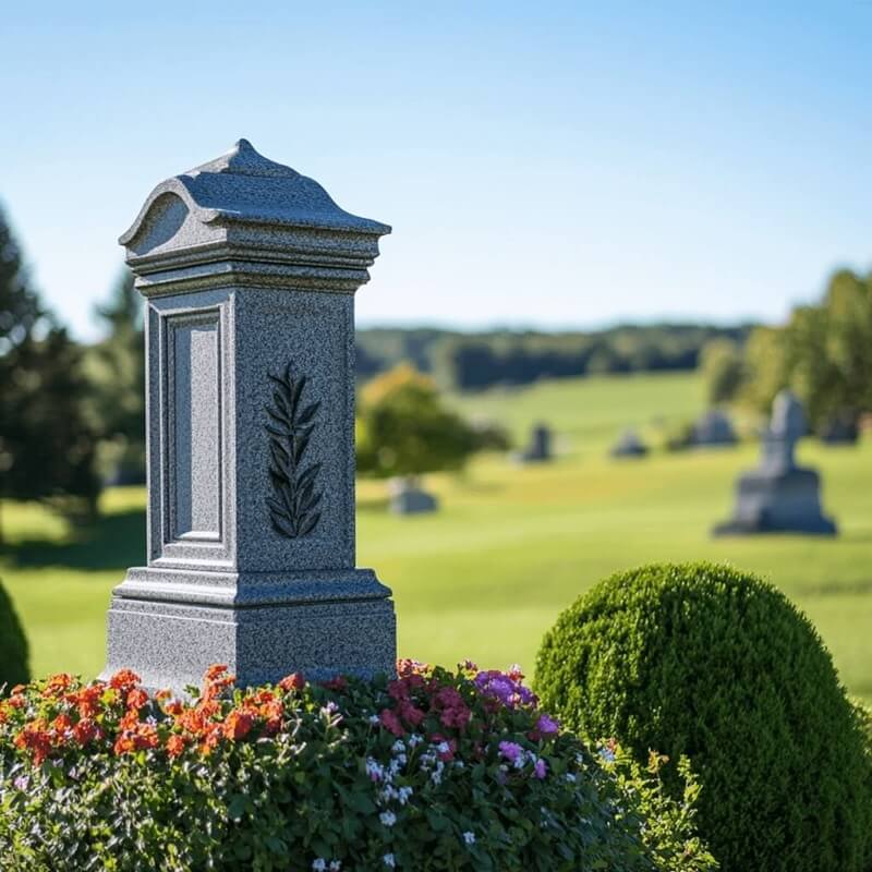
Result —
[{"label": "whole blurred grey monument with statue-like top, on the right lawn", "polygon": [[790,391],[782,391],[773,404],[760,465],[739,477],[732,518],[716,526],[715,535],[836,533],[835,523],[821,511],[818,473],[798,467],[794,457],[807,429],[802,404]]}]

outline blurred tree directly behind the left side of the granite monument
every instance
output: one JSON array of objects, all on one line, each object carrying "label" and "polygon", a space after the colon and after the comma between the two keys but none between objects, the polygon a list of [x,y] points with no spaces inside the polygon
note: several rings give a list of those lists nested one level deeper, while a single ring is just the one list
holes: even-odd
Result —
[{"label": "blurred tree directly behind the left side of the granite monument", "polygon": [[109,301],[97,306],[106,338],[86,355],[100,426],[100,470],[113,483],[145,481],[145,338],[143,304],[126,267]]}]

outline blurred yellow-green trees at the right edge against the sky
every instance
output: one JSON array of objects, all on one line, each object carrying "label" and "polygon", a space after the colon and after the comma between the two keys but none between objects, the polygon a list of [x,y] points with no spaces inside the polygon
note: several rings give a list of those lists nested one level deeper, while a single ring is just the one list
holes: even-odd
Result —
[{"label": "blurred yellow-green trees at the right edge against the sky", "polygon": [[710,343],[701,366],[713,403],[766,413],[789,387],[816,432],[856,433],[872,412],[872,272],[834,272],[819,304],[797,306],[782,327],[754,328],[744,346]]}]

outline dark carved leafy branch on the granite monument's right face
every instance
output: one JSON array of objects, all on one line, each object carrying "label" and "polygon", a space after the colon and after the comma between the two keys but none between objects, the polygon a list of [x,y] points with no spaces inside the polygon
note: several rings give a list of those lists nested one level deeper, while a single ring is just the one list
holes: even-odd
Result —
[{"label": "dark carved leafy branch on the granite monument's right face", "polygon": [[288,364],[283,376],[267,375],[275,389],[264,425],[269,434],[269,479],[274,492],[267,496],[266,504],[272,529],[288,538],[300,538],[317,528],[322,516],[320,511],[315,511],[322,500],[322,493],[317,491],[322,463],[303,465],[320,401],[300,409],[306,377],[294,378],[292,363]]}]

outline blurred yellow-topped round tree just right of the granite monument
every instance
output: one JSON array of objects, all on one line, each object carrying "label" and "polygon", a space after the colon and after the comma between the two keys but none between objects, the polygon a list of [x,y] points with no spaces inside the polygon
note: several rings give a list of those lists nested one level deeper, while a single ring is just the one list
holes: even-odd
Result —
[{"label": "blurred yellow-topped round tree just right of the granite monument", "polygon": [[463,465],[479,446],[475,431],[446,408],[433,380],[408,364],[363,391],[358,469],[377,476],[419,475]]}]

